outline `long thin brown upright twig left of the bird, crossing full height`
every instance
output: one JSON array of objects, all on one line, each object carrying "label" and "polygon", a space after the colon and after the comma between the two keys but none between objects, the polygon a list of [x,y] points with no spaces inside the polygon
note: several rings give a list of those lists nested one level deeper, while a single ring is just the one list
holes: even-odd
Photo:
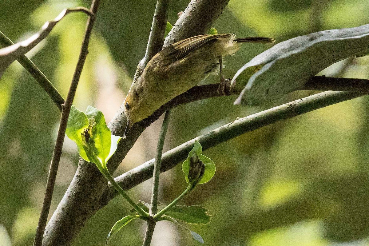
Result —
[{"label": "long thin brown upright twig left of the bird, crossing full height", "polygon": [[62,115],[60,119],[60,125],[58,129],[58,135],[56,137],[56,143],[54,148],[54,153],[51,159],[49,175],[46,183],[46,191],[44,203],[42,204],[42,210],[40,219],[38,221],[38,226],[36,230],[36,236],[34,241],[34,246],[42,245],[42,238],[45,231],[46,221],[50,210],[52,193],[54,191],[54,184],[56,179],[56,174],[58,172],[58,166],[60,161],[60,156],[62,154],[65,130],[67,127],[68,117],[70,107],[72,106],[74,96],[76,94],[77,85],[79,82],[80,75],[82,73],[83,65],[85,64],[86,56],[88,54],[88,45],[91,37],[92,27],[96,18],[97,8],[99,7],[100,0],[93,0],[91,4],[91,12],[94,14],[87,19],[86,33],[83,38],[82,47],[80,55],[78,58],[75,73],[73,74],[72,83],[70,84],[69,91],[65,103],[62,105]]}]

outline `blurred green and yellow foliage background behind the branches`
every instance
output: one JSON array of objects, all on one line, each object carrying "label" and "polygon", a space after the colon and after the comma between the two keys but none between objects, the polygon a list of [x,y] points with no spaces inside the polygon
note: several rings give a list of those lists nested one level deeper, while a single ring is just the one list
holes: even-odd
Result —
[{"label": "blurred green and yellow foliage background behind the branches", "polygon": [[[189,0],[172,0],[169,22]],[[144,56],[155,0],[101,1],[89,55],[74,104],[99,108],[110,121],[123,102]],[[0,30],[17,42],[37,32],[63,8],[90,6],[77,0],[7,0],[0,3]],[[86,15],[69,14],[27,55],[66,96],[85,31]],[[269,36],[284,41],[311,32],[369,22],[369,1],[231,0],[215,22],[218,33]],[[268,49],[246,44],[226,58],[225,77]],[[347,59],[327,76],[369,77],[369,57]],[[218,82],[216,76],[206,83]],[[236,97],[199,101],[172,111],[165,151],[236,117],[245,117],[315,93],[296,92],[263,107],[239,107]],[[0,246],[31,245],[41,211],[60,112],[34,79],[14,62],[0,80]],[[114,176],[154,157],[161,125],[145,130]],[[211,224],[189,226],[205,245],[369,245],[369,98],[361,97],[278,122],[206,150],[214,178],[181,203],[203,205]],[[55,210],[78,162],[66,139],[51,206]],[[162,204],[186,187],[180,165],[161,179]],[[149,201],[151,180],[133,188],[134,200]],[[104,245],[114,223],[129,213],[121,197],[89,219],[73,245]],[[51,216],[50,214],[50,216]],[[142,245],[145,224],[134,221],[114,245]],[[160,222],[153,246],[197,245],[186,231]]]}]

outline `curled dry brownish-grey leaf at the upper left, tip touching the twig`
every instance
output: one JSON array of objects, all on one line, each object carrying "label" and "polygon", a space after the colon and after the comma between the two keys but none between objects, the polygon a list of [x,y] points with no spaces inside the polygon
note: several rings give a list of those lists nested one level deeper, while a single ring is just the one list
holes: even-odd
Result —
[{"label": "curled dry brownish-grey leaf at the upper left, tip touching the twig", "polygon": [[34,48],[42,39],[46,38],[51,32],[52,28],[68,13],[82,11],[90,14],[90,11],[84,7],[78,8],[66,8],[63,10],[58,17],[52,21],[47,21],[39,32],[24,41],[18,42],[17,44],[10,45],[8,47],[0,49],[0,77],[3,75],[5,69],[20,56],[24,55],[32,48]]}]

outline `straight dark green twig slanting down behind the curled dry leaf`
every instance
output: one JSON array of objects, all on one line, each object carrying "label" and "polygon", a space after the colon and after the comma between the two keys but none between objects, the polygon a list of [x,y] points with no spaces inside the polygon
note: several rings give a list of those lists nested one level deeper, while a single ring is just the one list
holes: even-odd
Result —
[{"label": "straight dark green twig slanting down behind the curled dry leaf", "polygon": [[[13,45],[14,43],[6,37],[0,31],[0,44],[3,47]],[[22,55],[17,61],[34,77],[37,83],[46,91],[51,100],[55,105],[62,111],[62,104],[64,103],[64,98],[61,96],[58,90],[50,82],[50,80],[38,69],[38,67],[30,60],[27,56]]]}]

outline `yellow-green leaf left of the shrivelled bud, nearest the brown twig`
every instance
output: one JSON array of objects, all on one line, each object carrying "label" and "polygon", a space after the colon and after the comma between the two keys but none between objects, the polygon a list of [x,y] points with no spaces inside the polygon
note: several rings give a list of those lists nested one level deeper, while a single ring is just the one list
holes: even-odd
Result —
[{"label": "yellow-green leaf left of the shrivelled bud, nearest the brown twig", "polygon": [[[75,105],[70,108],[66,135],[77,144],[79,155],[87,162],[91,162],[87,157],[87,146],[83,144],[83,132],[89,127],[89,120],[84,112],[78,110]],[[88,150],[87,150],[88,152]]]}]

